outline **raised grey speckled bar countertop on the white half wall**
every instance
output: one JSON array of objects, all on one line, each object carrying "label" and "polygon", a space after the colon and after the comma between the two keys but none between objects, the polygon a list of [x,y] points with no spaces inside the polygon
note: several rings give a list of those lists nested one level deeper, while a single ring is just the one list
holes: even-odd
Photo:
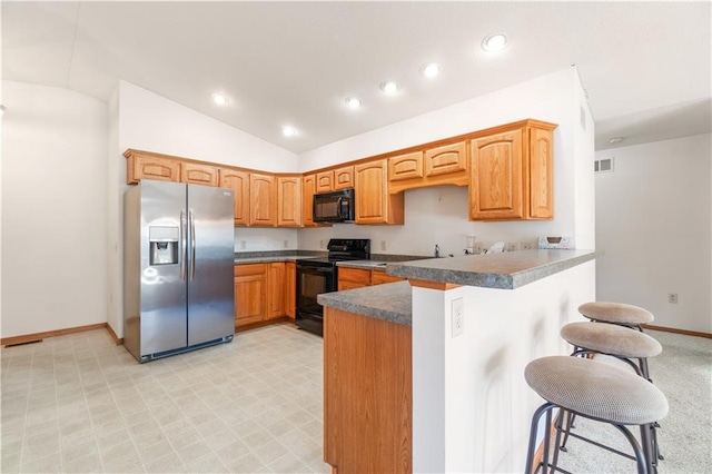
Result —
[{"label": "raised grey speckled bar countertop on the white half wall", "polygon": [[485,288],[514,289],[595,258],[594,250],[520,250],[386,265],[386,273]]}]

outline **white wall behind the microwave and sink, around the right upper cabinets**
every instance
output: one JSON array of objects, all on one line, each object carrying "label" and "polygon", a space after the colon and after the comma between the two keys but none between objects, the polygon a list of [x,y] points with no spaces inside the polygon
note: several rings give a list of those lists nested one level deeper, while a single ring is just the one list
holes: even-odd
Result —
[{"label": "white wall behind the microwave and sink, around the right upper cabinets", "polygon": [[[587,117],[585,130],[581,109]],[[299,169],[307,171],[526,118],[558,124],[554,132],[554,220],[473,223],[467,217],[466,189],[444,186],[405,191],[403,226],[339,224],[300,229],[299,248],[323,249],[320,243],[329,237],[369,237],[373,253],[432,255],[439,244],[443,253],[462,255],[468,234],[484,243],[536,241],[538,236],[563,235],[574,237],[578,248],[593,248],[593,121],[575,68],[304,152]],[[386,240],[386,251],[380,249],[382,240]]]}]

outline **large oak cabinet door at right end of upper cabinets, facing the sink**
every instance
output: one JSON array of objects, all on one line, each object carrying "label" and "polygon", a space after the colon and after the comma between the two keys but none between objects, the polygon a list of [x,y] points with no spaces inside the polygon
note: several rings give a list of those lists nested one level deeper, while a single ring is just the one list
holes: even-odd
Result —
[{"label": "large oak cabinet door at right end of upper cabinets, facing the sink", "polygon": [[472,142],[469,218],[522,219],[523,130],[484,137]]}]

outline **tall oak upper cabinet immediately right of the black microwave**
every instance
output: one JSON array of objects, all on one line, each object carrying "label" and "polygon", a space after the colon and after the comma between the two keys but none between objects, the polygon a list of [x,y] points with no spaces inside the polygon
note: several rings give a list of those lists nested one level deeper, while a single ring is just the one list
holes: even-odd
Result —
[{"label": "tall oak upper cabinet immediately right of the black microwave", "polygon": [[388,194],[388,164],[377,159],[354,166],[356,224],[403,224],[403,192]]}]

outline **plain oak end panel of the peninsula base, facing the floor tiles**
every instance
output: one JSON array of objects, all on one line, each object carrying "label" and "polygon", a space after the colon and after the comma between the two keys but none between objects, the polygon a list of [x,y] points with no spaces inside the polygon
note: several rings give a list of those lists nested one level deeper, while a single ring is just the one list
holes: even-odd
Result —
[{"label": "plain oak end panel of the peninsula base, facing the floor tiles", "polygon": [[411,327],[324,312],[324,461],[339,474],[412,473]]}]

